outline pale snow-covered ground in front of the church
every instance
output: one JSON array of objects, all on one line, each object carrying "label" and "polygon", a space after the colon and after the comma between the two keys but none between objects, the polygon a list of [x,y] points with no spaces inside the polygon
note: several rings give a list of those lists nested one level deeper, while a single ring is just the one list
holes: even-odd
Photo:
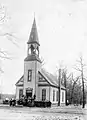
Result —
[{"label": "pale snow-covered ground in front of the church", "polygon": [[[72,112],[70,112],[72,111]],[[84,120],[79,108],[0,107],[0,120]]]}]

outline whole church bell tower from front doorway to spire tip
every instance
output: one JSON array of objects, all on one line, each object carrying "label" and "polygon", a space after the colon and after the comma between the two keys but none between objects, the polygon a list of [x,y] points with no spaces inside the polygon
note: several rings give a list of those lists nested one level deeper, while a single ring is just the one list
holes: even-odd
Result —
[{"label": "whole church bell tower from front doorway to spire tip", "polygon": [[[38,99],[38,71],[41,68],[41,60],[39,58],[39,40],[34,18],[29,40],[27,42],[27,57],[24,59],[24,95],[36,95]],[[30,97],[29,96],[29,97]]]}]

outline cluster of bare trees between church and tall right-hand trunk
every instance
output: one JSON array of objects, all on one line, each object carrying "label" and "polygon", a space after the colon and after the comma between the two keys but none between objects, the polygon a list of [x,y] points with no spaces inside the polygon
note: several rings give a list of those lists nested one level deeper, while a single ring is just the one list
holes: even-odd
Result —
[{"label": "cluster of bare trees between church and tall right-hand trunk", "polygon": [[69,104],[81,104],[82,103],[82,91],[80,84],[80,76],[74,77],[73,73],[70,74],[69,79],[66,82],[67,100]]}]

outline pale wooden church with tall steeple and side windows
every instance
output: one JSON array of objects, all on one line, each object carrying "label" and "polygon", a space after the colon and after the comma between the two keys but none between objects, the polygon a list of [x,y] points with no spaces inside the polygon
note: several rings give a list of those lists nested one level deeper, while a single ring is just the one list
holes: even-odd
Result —
[{"label": "pale wooden church with tall steeple and side windows", "polygon": [[[20,99],[22,95],[25,95],[27,98],[35,95],[38,101],[50,101],[52,104],[58,104],[58,79],[42,68],[35,18],[27,46],[27,57],[24,59],[24,74],[15,84],[16,100]],[[61,105],[65,104],[65,91],[65,87],[61,85]]]}]

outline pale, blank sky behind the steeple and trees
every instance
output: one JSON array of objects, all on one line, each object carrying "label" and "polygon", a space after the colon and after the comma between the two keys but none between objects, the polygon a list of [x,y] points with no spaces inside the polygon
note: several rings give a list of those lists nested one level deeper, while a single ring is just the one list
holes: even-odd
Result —
[{"label": "pale, blank sky behind the steeple and trees", "polygon": [[[45,69],[54,74],[62,63],[71,70],[80,54],[87,64],[87,0],[0,0],[0,5],[7,17],[0,24],[0,49],[12,58],[0,60],[1,93],[15,93],[15,83],[24,73],[34,15]],[[16,38],[2,35],[8,32]]]}]

